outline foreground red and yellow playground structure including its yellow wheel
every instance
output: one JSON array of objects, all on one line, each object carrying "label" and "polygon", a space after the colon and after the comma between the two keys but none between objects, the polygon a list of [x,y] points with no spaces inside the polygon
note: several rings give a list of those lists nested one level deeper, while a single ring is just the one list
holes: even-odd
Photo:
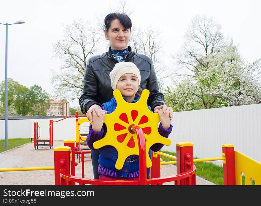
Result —
[{"label": "foreground red and yellow playground structure including its yellow wheel", "polygon": [[[114,146],[119,157],[115,167],[121,169],[125,159],[131,154],[139,155],[139,180],[96,180],[75,176],[75,147],[74,140],[64,141],[63,146],[54,148],[54,170],[55,185],[162,185],[165,182],[174,181],[175,185],[196,185],[196,167],[194,162],[222,160],[224,185],[242,185],[242,173],[245,175],[245,184],[251,185],[254,179],[256,185],[261,184],[261,164],[246,157],[234,146],[226,144],[222,146],[222,157],[210,159],[193,159],[193,143],[184,141],[176,144],[177,156],[170,156],[162,152],[153,152],[150,160],[146,148],[154,143],[170,145],[171,141],[162,137],[157,131],[159,123],[158,114],[152,113],[147,108],[146,102],[149,91],[144,90],[141,98],[136,103],[127,103],[123,100],[120,92],[113,92],[117,101],[117,108],[111,114],[106,114],[104,123],[107,127],[105,137],[94,143],[94,148],[101,148],[105,145]],[[138,108],[138,109],[137,109]],[[142,112],[139,112],[142,111]],[[112,121],[112,119],[114,121]],[[115,123],[115,121],[117,121]],[[177,165],[177,174],[167,177],[160,177],[160,156],[165,156],[171,161],[169,164]],[[146,168],[151,167],[151,178],[147,179]],[[247,167],[247,168],[246,168]],[[84,168],[84,161],[82,161]]]}]

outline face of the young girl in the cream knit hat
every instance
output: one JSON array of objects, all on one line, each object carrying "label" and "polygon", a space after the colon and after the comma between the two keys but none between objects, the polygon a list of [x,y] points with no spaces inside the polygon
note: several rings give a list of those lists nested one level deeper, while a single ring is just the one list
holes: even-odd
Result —
[{"label": "face of the young girl in the cream knit hat", "polygon": [[135,94],[139,89],[138,77],[135,74],[124,74],[117,82],[116,88],[120,90],[122,97],[130,103],[135,99]]}]

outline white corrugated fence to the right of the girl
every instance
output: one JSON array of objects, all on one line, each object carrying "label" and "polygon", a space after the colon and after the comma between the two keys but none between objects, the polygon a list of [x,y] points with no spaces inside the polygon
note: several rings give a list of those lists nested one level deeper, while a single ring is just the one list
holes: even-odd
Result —
[{"label": "white corrugated fence to the right of the girl", "polygon": [[[174,112],[172,143],[162,151],[176,152],[176,143],[193,143],[198,158],[222,157],[222,145],[261,162],[261,104]],[[213,161],[222,165],[222,161]]]}]

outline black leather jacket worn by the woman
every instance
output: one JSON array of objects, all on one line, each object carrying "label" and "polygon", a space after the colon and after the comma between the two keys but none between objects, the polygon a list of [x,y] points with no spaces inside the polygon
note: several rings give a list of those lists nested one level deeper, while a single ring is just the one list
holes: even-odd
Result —
[{"label": "black leather jacket worn by the woman", "polygon": [[[163,100],[163,93],[159,92],[157,77],[152,60],[146,56],[137,54],[128,46],[129,53],[125,58],[126,62],[133,62],[141,72],[142,89],[149,90],[149,98],[147,104],[152,108],[165,104]],[[102,103],[109,101],[113,97],[113,90],[111,87],[111,79],[109,77],[115,64],[118,63],[113,58],[111,48],[102,55],[91,57],[85,69],[83,77],[83,90],[79,98],[79,104],[83,114],[93,104],[101,106]]]}]

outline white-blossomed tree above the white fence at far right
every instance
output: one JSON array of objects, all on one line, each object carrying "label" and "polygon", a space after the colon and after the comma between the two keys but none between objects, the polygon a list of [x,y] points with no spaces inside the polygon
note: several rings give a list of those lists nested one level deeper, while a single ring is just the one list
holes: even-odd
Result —
[{"label": "white-blossomed tree above the white fence at far right", "polygon": [[[232,43],[215,57],[206,58],[209,66],[195,76],[205,85],[205,94],[218,97],[218,107],[258,103],[261,99],[260,60],[245,64]],[[206,105],[204,105],[205,108]]]}]

